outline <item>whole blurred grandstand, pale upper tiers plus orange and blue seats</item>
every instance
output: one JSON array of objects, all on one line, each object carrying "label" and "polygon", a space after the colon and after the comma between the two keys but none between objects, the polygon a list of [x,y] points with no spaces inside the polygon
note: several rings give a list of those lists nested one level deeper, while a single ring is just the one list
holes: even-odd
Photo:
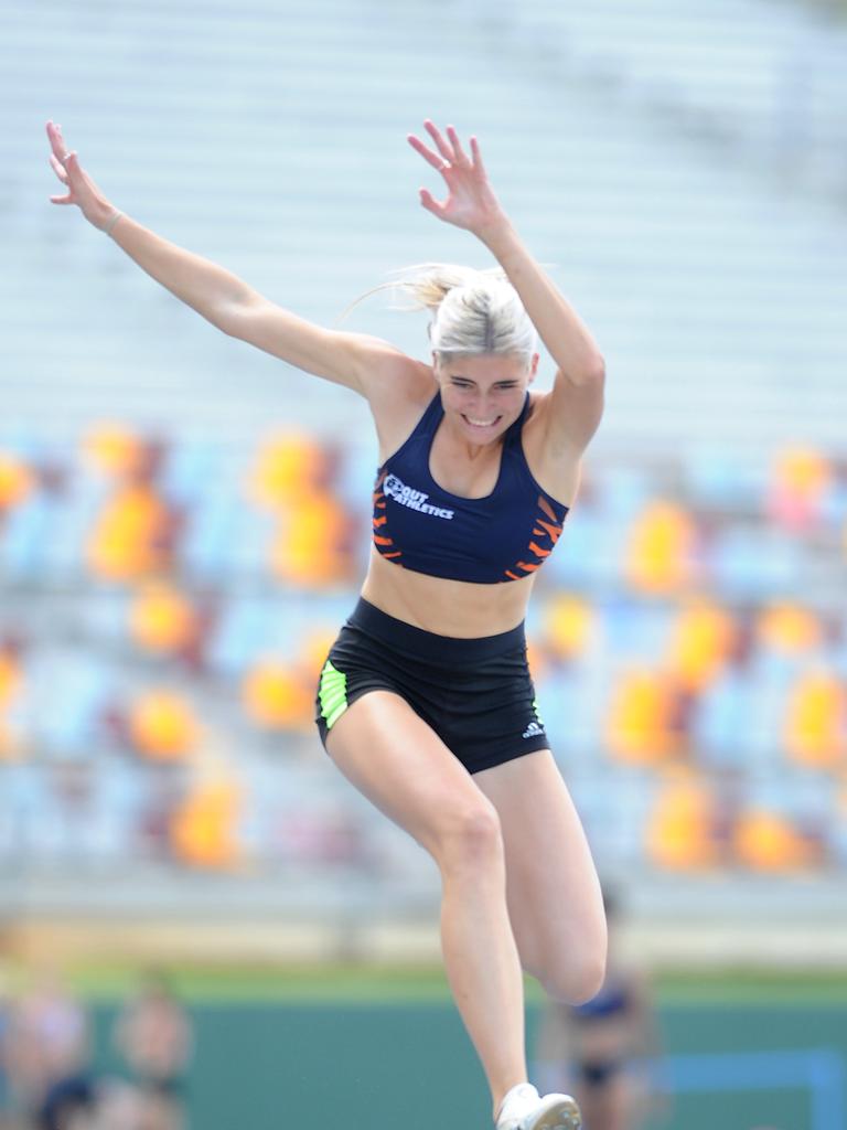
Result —
[{"label": "whole blurred grandstand, pale upper tiers plus orange and blue seats", "polygon": [[[750,0],[438,11],[54,6],[47,42],[8,17],[5,873],[430,889],[311,722],[365,567],[364,406],[50,209],[41,132],[59,119],[120,207],[332,324],[403,263],[484,262],[417,208],[403,137],[429,115],[480,136],[608,359],[529,621],[601,866],[844,879],[847,32]],[[347,324],[425,351],[374,301]]]}]

